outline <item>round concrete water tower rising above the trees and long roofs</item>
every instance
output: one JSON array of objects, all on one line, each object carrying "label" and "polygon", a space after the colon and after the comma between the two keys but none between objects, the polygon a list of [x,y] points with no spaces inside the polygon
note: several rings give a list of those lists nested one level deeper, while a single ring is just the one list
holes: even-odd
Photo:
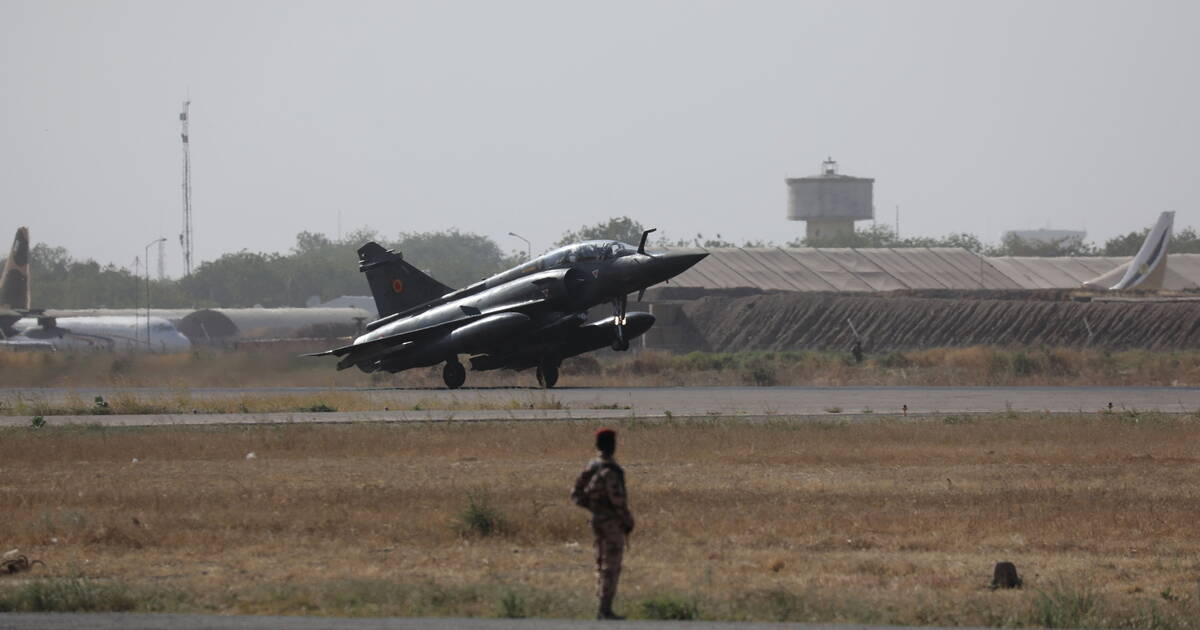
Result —
[{"label": "round concrete water tower rising above the trees and long roofs", "polygon": [[827,158],[821,174],[787,178],[787,218],[806,221],[809,240],[829,240],[854,233],[854,221],[875,218],[875,180],[838,173]]}]

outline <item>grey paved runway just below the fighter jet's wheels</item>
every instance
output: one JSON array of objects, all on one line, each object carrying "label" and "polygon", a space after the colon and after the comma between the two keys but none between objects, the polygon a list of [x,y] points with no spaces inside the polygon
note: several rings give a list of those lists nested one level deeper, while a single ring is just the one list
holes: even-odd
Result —
[{"label": "grey paved runway just below the fighter jet's wheels", "polygon": [[[53,424],[112,426],[402,422],[402,421],[554,421],[628,419],[834,419],[880,415],[930,416],[965,413],[1196,413],[1200,388],[596,388],[596,389],[192,389],[192,398],[272,395],[362,396],[377,410],[262,414],[185,413],[166,415],[55,415]],[[178,396],[169,389],[5,389],[0,401],[62,403],[95,396],[131,395],[148,400]],[[0,426],[24,426],[24,415],[0,416]]]}]

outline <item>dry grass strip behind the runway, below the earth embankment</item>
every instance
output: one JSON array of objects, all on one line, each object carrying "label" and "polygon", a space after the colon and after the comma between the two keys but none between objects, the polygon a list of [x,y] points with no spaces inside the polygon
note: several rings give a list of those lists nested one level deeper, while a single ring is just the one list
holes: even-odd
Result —
[{"label": "dry grass strip behind the runway, below the earth embankment", "polygon": [[[338,372],[334,362],[281,349],[186,354],[0,352],[10,388],[394,386],[442,388],[440,367],[398,374]],[[469,386],[533,386],[532,371],[470,372]],[[869,354],[595,353],[569,359],[560,386],[696,385],[1200,385],[1200,350],[1088,348],[928,348]]]}]

